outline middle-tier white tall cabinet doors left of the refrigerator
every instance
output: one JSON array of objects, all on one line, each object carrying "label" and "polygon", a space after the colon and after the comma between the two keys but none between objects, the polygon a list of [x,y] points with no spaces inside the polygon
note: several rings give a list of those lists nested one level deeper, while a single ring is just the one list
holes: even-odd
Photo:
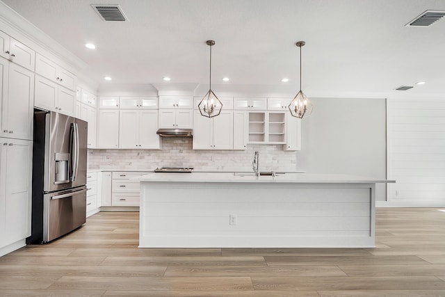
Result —
[{"label": "middle-tier white tall cabinet doors left of the refrigerator", "polygon": [[33,72],[0,58],[0,136],[33,139]]}]

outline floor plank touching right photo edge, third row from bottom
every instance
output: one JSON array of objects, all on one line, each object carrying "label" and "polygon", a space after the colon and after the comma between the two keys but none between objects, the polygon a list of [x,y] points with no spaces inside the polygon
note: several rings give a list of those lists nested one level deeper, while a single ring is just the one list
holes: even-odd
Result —
[{"label": "floor plank touching right photo edge, third row from bottom", "polygon": [[339,266],[349,276],[422,276],[445,275],[445,265],[354,265]]}]

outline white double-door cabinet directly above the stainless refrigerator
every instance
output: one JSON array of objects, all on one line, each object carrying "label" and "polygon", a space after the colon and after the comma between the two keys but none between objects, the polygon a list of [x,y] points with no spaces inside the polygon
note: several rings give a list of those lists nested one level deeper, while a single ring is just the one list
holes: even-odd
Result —
[{"label": "white double-door cabinet directly above the stainless refrigerator", "polygon": [[65,115],[74,115],[76,93],[59,86],[54,81],[35,76],[34,105],[41,109],[57,111]]}]

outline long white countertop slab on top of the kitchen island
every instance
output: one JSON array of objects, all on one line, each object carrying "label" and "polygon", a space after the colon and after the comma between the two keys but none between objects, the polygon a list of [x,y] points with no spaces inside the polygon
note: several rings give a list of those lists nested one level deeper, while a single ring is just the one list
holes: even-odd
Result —
[{"label": "long white countertop slab on top of the kitchen island", "polygon": [[229,183],[300,183],[300,184],[369,184],[391,183],[395,181],[387,179],[375,179],[373,177],[359,177],[355,175],[323,175],[309,173],[286,173],[272,177],[262,175],[256,177],[251,172],[248,175],[229,172],[193,172],[193,173],[149,173],[140,177],[134,177],[140,182],[229,182]]}]

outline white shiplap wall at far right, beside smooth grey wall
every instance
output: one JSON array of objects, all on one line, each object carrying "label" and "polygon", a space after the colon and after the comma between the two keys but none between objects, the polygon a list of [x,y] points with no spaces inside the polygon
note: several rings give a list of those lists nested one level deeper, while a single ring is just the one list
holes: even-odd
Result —
[{"label": "white shiplap wall at far right, beside smooth grey wall", "polygon": [[445,206],[445,100],[387,100],[388,204]]}]

